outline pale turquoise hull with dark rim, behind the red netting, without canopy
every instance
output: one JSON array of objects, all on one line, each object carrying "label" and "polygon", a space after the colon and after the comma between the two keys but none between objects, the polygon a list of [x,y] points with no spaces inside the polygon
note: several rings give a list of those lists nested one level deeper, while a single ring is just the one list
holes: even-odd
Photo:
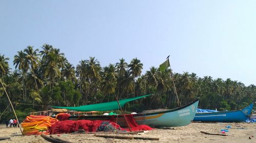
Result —
[{"label": "pale turquoise hull with dark rim, behind the red netting, without canopy", "polygon": [[[190,124],[196,114],[198,100],[185,106],[151,113],[134,114],[133,118],[139,125],[150,127],[178,127]],[[122,115],[118,116],[71,116],[69,120],[111,120],[116,121],[121,127],[127,127]]]}]

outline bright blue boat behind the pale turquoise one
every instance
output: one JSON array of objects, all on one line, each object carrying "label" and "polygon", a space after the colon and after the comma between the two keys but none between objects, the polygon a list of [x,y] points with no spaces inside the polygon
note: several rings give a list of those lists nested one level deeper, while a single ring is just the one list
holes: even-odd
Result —
[{"label": "bright blue boat behind the pale turquoise one", "polygon": [[244,122],[251,116],[252,106],[253,106],[253,103],[238,110],[217,111],[217,112],[197,112],[193,121]]}]

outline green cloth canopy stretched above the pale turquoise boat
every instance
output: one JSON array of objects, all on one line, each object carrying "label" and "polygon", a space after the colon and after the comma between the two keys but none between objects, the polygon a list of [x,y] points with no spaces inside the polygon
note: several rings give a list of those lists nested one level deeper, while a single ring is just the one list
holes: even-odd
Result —
[{"label": "green cloth canopy stretched above the pale turquoise boat", "polygon": [[[144,95],[144,96],[119,100],[119,103],[120,103],[121,107],[123,107],[126,102],[130,102],[130,101],[140,99],[140,98],[143,98],[143,97],[147,97],[147,96],[150,96],[150,95]],[[83,106],[78,106],[78,107],[60,107],[60,106],[52,106],[52,107],[53,108],[76,110],[76,111],[109,111],[109,110],[118,110],[119,109],[119,105],[118,105],[117,101],[91,104],[91,105],[83,105]]]}]

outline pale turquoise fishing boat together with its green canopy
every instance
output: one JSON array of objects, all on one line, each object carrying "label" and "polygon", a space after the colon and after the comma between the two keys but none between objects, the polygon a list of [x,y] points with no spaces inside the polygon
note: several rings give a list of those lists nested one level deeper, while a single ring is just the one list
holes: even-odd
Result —
[{"label": "pale turquoise fishing boat together with its green canopy", "polygon": [[[148,95],[146,95],[148,96]],[[135,97],[136,99],[146,97]],[[123,106],[124,103],[135,100],[135,98],[129,98],[120,100],[120,105]],[[198,99],[184,105],[182,107],[164,110],[164,111],[157,111],[157,112],[150,112],[150,113],[137,113],[133,115],[125,115],[126,118],[134,118],[138,125],[148,125],[150,127],[178,127],[178,126],[185,126],[190,124],[196,114],[196,109],[198,106]],[[118,105],[116,101],[113,102],[106,102],[106,103],[99,103],[93,105],[84,105],[79,107],[56,107],[55,108],[67,108],[72,110],[80,110],[80,111],[88,111],[88,110],[117,110]],[[112,116],[104,116],[104,115],[94,115],[94,116],[70,116],[69,120],[111,120],[117,122],[121,127],[127,127],[123,115],[112,115]]]}]

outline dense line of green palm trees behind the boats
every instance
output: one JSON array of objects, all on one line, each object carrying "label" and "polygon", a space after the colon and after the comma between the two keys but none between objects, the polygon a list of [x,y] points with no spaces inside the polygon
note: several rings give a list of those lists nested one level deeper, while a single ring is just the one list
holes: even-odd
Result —
[{"label": "dense line of green palm trees behind the boats", "polygon": [[[123,99],[153,94],[127,104],[126,110],[174,108],[179,104],[172,80],[182,105],[199,98],[200,108],[230,110],[256,101],[253,84],[246,87],[230,78],[212,79],[188,72],[174,73],[172,79],[170,69],[159,71],[158,67],[151,67],[142,74],[143,64],[137,58],[130,63],[121,58],[115,64],[101,67],[95,57],[90,57],[74,66],[60,49],[44,44],[40,49],[28,46],[17,51],[14,60],[9,60],[0,53],[0,76],[20,113],[47,109],[48,105],[79,106],[114,101],[114,95]],[[9,63],[15,70],[11,71]],[[8,105],[7,95],[0,85],[0,113]]]}]

